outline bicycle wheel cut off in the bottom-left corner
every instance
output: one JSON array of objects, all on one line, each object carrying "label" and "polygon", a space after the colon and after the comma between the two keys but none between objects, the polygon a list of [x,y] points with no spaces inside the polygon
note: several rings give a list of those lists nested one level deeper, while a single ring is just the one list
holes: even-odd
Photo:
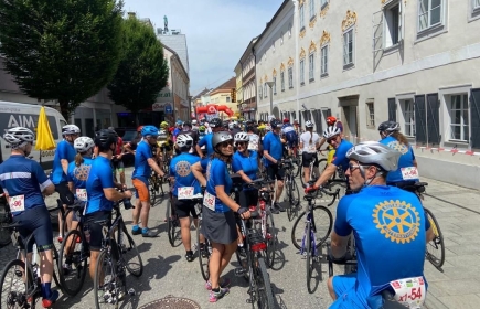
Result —
[{"label": "bicycle wheel cut off in the bottom-left corner", "polygon": [[10,260],[3,268],[0,308],[35,308],[35,299],[41,297],[40,287],[33,291],[33,273],[30,267],[26,280],[24,274],[25,264],[20,259]]}]

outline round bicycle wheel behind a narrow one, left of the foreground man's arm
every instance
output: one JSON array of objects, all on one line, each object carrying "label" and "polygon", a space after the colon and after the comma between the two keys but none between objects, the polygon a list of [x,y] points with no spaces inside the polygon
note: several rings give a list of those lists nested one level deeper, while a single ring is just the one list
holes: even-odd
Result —
[{"label": "round bicycle wheel behind a narrow one, left of the foreground man's arm", "polygon": [[[316,247],[319,248],[322,243],[330,236],[333,226],[332,213],[324,206],[313,206],[313,216],[316,233],[314,237],[317,239]],[[291,230],[291,243],[297,249],[301,248],[301,241],[303,238],[305,225],[299,224],[306,221],[306,212],[302,212],[297,221],[294,223],[294,228]]]}]

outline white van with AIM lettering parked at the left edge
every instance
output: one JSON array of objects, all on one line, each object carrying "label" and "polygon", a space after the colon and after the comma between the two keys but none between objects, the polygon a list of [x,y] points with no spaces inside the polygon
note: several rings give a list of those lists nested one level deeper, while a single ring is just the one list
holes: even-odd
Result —
[{"label": "white van with AIM lettering parked at the left edge", "polygon": [[[0,100],[0,162],[7,160],[11,151],[10,147],[3,140],[3,134],[7,129],[13,127],[25,127],[35,132],[41,107],[42,106],[34,104]],[[63,118],[58,110],[51,107],[45,107],[45,114],[53,139],[55,143],[58,143],[63,140],[62,127],[66,125],[65,118]],[[30,156],[32,156],[32,159],[36,162],[41,162],[43,169],[51,169],[55,149],[42,151],[42,160],[40,160],[40,151],[35,150],[35,143],[33,143],[32,153]]]}]

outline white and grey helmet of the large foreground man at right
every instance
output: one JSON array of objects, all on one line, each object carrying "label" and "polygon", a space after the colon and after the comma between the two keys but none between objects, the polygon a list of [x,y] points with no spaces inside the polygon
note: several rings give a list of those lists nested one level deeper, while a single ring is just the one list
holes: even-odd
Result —
[{"label": "white and grey helmet of the large foreground man at right", "polygon": [[352,147],[346,158],[362,164],[375,164],[384,171],[394,171],[398,168],[398,158],[402,153],[377,141],[365,141]]}]

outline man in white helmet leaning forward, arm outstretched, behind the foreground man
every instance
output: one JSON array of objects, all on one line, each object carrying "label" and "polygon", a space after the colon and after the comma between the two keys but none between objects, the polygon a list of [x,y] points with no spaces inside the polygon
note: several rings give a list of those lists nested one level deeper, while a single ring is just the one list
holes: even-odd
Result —
[{"label": "man in white helmet leaning forward, arm outstretched, behind the foreground man", "polygon": [[[349,168],[346,151],[349,151],[349,149],[352,148],[353,145],[350,141],[342,139],[341,134],[341,130],[334,126],[330,126],[323,131],[323,138],[330,146],[335,149],[335,157],[333,158],[332,162],[328,164],[328,167],[324,169],[314,185],[311,187],[313,191],[317,190],[320,185],[323,185],[332,175],[334,175],[337,167],[341,167],[343,171],[346,171],[346,169]],[[308,193],[310,189],[307,188],[305,192]],[[345,194],[350,193],[351,192],[348,189]]]}]

